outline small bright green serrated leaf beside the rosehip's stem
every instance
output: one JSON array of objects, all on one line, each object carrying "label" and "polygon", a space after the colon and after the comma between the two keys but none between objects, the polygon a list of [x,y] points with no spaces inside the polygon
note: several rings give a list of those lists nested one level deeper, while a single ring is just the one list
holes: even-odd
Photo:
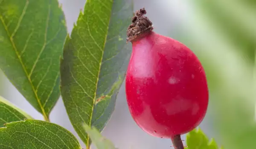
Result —
[{"label": "small bright green serrated leaf beside the rosehip's stem", "polygon": [[194,129],[186,135],[187,149],[219,149],[214,139],[208,140],[201,129]]}]

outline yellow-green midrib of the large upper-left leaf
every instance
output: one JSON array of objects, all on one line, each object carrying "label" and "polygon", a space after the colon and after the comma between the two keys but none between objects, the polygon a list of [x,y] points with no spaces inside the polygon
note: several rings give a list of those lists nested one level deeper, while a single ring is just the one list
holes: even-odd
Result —
[{"label": "yellow-green midrib of the large upper-left leaf", "polygon": [[[25,7],[24,7],[24,9],[23,9],[23,12],[24,11],[26,11],[26,7],[29,5],[29,1],[27,0],[26,1],[26,4],[25,4]],[[49,8],[50,9],[50,8]],[[20,20],[22,20],[22,17],[23,17],[23,15],[21,14],[20,15],[20,18],[19,18],[19,21]],[[48,13],[48,17],[49,17],[49,13]],[[36,98],[36,100],[38,101],[38,104],[39,104],[39,106],[40,106],[40,108],[41,108],[41,111],[42,111],[42,114],[43,114],[43,116],[44,116],[44,119],[46,120],[46,121],[49,121],[49,118],[48,118],[48,116],[47,116],[47,114],[46,114],[46,112],[45,112],[45,110],[44,110],[44,107],[42,106],[42,103],[41,103],[41,101],[40,101],[40,99],[39,99],[39,97],[38,97],[38,95],[37,95],[37,92],[36,92],[36,90],[35,90],[35,87],[34,87],[34,85],[33,85],[33,83],[32,83],[32,80],[31,80],[31,78],[30,78],[30,75],[28,74],[28,72],[27,72],[27,70],[26,70],[26,67],[25,67],[25,65],[24,65],[24,63],[23,63],[23,60],[21,59],[21,57],[20,57],[20,54],[19,54],[19,52],[18,52],[18,50],[17,50],[17,48],[16,48],[16,45],[15,45],[15,43],[14,43],[14,41],[13,41],[13,35],[11,35],[10,34],[10,32],[9,32],[9,30],[8,30],[8,28],[7,28],[7,26],[6,26],[6,24],[5,24],[5,22],[4,22],[4,20],[3,20],[3,16],[0,14],[0,20],[1,20],[1,22],[2,22],[2,24],[3,24],[3,26],[4,26],[4,28],[5,28],[5,30],[6,30],[6,33],[7,33],[7,35],[9,36],[9,40],[10,40],[10,42],[11,42],[11,44],[12,44],[12,48],[14,49],[14,51],[15,51],[15,54],[16,54],[16,56],[18,57],[18,59],[19,59],[19,61],[20,61],[20,64],[21,64],[21,66],[22,66],[22,68],[23,68],[23,71],[25,72],[25,74],[26,74],[26,77],[27,77],[27,79],[29,80],[29,83],[30,83],[30,85],[31,85],[31,87],[32,87],[32,91],[34,92],[34,94],[35,94],[35,98]],[[19,23],[19,22],[18,22]],[[15,31],[14,32],[17,32],[17,29],[15,28]]]}]

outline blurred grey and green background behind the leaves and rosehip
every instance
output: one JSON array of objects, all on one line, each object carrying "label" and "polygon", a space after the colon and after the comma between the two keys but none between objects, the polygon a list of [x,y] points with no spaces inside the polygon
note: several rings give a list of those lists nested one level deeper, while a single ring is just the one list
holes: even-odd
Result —
[{"label": "blurred grey and green background behind the leaves and rosehip", "polygon": [[[59,2],[71,32],[85,0]],[[225,149],[256,149],[256,0],[134,0],[134,11],[142,7],[155,32],[186,44],[204,66],[210,99],[200,128]],[[2,72],[0,95],[35,119],[43,120]],[[79,138],[61,98],[50,119]],[[119,149],[172,148],[171,140],[147,135],[132,120],[124,84],[102,135]],[[81,140],[80,143],[84,147]]]}]

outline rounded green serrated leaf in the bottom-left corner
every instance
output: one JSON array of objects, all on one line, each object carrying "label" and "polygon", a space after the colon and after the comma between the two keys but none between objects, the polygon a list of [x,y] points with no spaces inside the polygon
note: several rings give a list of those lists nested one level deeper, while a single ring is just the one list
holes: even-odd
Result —
[{"label": "rounded green serrated leaf in the bottom-left corner", "polygon": [[81,149],[76,137],[54,123],[24,120],[0,128],[0,149]]}]

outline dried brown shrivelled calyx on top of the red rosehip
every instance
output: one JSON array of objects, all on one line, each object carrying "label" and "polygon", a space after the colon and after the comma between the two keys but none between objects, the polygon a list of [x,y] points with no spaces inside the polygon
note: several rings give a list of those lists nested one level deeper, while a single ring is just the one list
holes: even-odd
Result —
[{"label": "dried brown shrivelled calyx on top of the red rosehip", "polygon": [[128,37],[126,43],[134,40],[140,34],[153,30],[152,22],[148,17],[144,16],[146,13],[147,12],[144,7],[136,11],[135,16],[131,20],[132,24],[128,27],[126,32]]}]

